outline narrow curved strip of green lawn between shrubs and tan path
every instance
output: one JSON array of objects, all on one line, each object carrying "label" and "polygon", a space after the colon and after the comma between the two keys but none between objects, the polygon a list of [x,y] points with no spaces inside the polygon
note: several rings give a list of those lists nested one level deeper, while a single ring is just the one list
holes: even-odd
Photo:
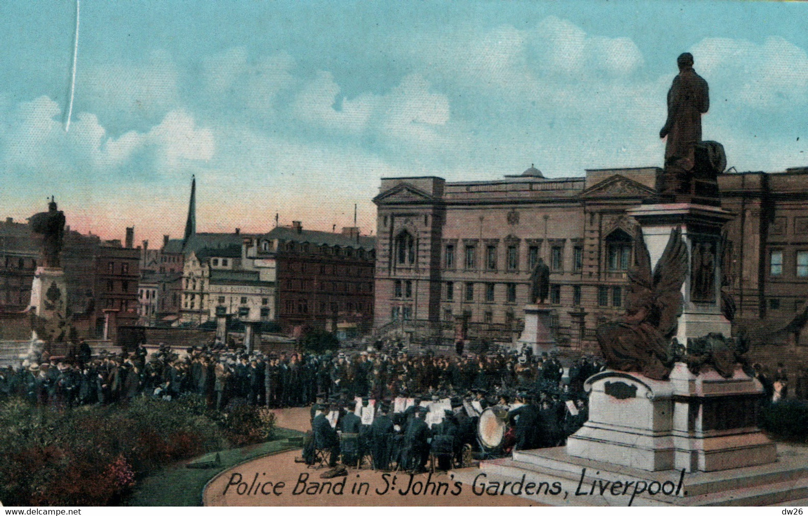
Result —
[{"label": "narrow curved strip of green lawn between shrubs and tan path", "polygon": [[[301,447],[300,443],[289,442],[289,438],[302,437],[302,432],[276,428],[271,441],[252,444],[242,448],[221,450],[208,453],[191,460],[183,460],[162,468],[144,479],[139,480],[131,496],[126,497],[126,506],[201,506],[204,486],[214,476],[225,469],[246,460],[263,455],[272,455],[280,451]],[[204,463],[213,460],[219,454],[221,463],[213,468],[186,468],[186,464]]]}]

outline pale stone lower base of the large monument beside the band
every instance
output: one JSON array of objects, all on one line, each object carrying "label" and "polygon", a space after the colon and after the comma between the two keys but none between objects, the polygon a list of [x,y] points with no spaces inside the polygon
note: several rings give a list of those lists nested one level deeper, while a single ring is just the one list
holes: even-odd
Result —
[{"label": "pale stone lower base of the large monument beside the band", "polygon": [[677,363],[667,381],[604,371],[585,388],[589,420],[569,455],[646,471],[710,472],[768,464],[774,443],[755,426],[763,388],[739,368],[724,379]]}]

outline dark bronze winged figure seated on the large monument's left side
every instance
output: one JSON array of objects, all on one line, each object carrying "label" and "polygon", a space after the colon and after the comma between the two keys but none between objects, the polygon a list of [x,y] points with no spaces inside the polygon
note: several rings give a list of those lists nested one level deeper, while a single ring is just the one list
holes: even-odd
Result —
[{"label": "dark bronze winged figure seated on the large monument's left side", "polygon": [[671,230],[652,272],[642,229],[636,230],[633,240],[634,263],[629,270],[625,317],[599,325],[598,343],[608,367],[665,380],[673,367],[669,348],[682,313],[688,250],[681,229]]}]

